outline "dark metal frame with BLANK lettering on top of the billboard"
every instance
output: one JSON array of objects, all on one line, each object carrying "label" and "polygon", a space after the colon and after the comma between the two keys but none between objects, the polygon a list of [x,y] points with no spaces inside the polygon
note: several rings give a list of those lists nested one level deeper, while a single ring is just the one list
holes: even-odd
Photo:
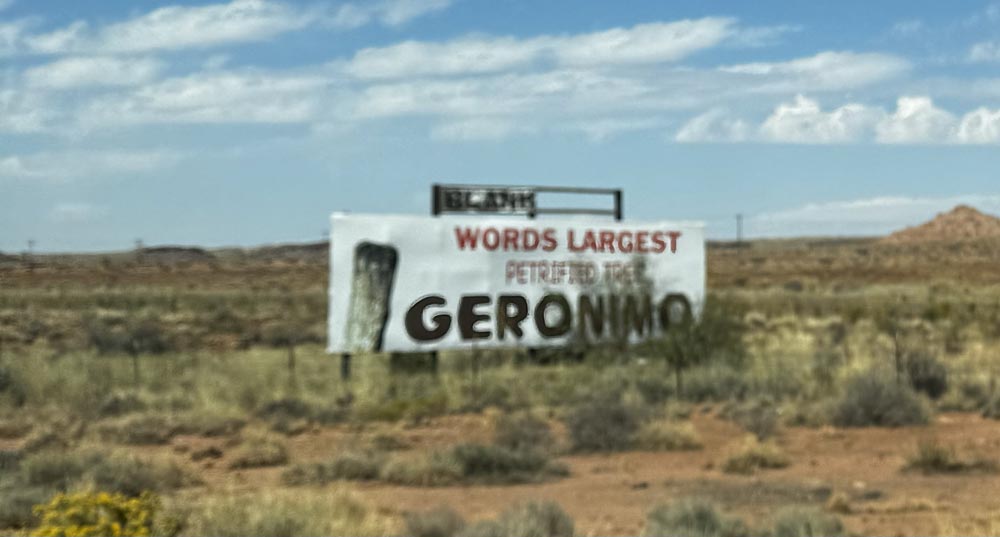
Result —
[{"label": "dark metal frame with BLANK lettering on top of the billboard", "polygon": [[[494,209],[483,209],[472,206],[462,208],[450,208],[446,197],[451,193],[471,196],[472,193],[495,193],[506,196],[506,200],[517,201],[523,196],[531,197],[530,207],[519,208],[516,203],[509,209],[501,210],[500,207]],[[538,207],[535,203],[537,194],[584,194],[611,196],[614,201],[614,209],[594,209],[587,207]],[[527,205],[527,204],[526,204]],[[513,185],[459,185],[435,183],[431,187],[431,215],[441,216],[442,214],[509,214],[526,215],[528,218],[535,218],[540,214],[590,214],[597,216],[611,216],[616,221],[622,219],[622,189],[620,188],[586,188],[586,187],[562,187],[562,186],[513,186]]]}]

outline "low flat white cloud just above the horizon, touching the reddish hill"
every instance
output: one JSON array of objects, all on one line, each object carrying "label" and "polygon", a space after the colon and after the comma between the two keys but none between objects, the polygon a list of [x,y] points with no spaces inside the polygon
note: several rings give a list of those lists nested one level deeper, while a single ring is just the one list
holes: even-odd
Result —
[{"label": "low flat white cloud just above the horizon, touching the reddish hill", "polygon": [[885,196],[849,201],[810,203],[747,219],[754,237],[882,235],[925,222],[956,205],[971,205],[1000,213],[1000,195],[971,194],[941,198]]}]

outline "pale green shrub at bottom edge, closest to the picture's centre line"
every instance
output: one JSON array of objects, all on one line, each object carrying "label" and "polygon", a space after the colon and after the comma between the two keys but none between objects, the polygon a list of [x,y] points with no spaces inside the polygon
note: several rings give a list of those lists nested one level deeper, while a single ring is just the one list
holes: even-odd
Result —
[{"label": "pale green shrub at bottom edge, closest to the picture's centre line", "polygon": [[496,520],[477,522],[460,537],[573,537],[573,519],[555,502],[517,505]]}]

